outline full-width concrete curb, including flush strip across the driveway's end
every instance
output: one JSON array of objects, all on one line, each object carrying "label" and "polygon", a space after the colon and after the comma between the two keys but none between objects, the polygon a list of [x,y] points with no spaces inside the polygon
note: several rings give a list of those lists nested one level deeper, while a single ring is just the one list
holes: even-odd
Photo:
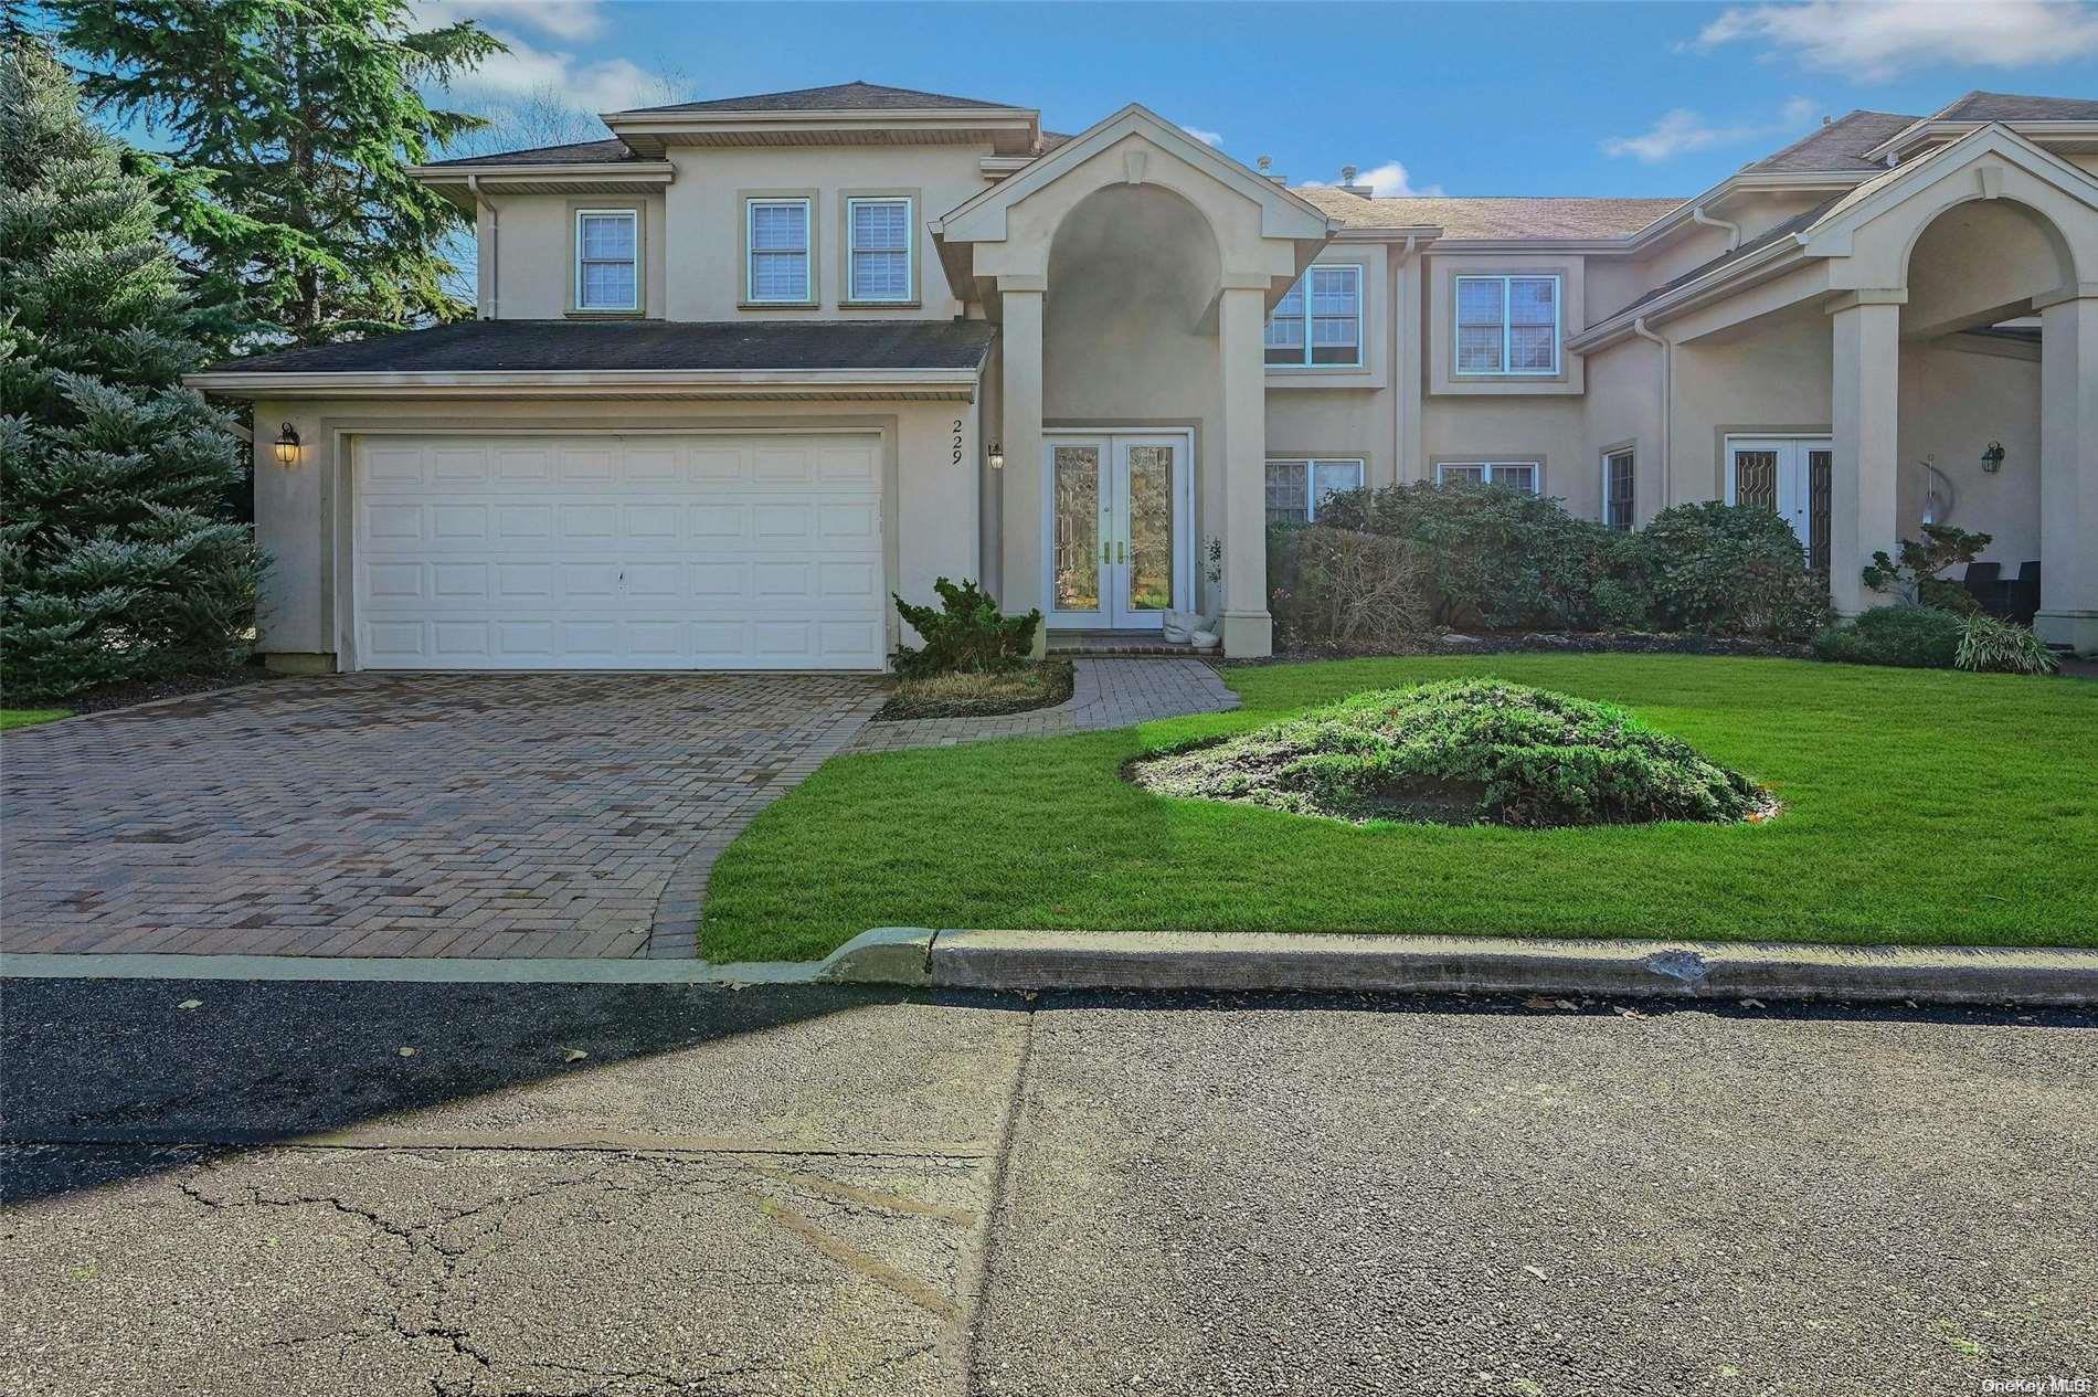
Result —
[{"label": "full-width concrete curb, including flush strip across the driveway's end", "polygon": [[1311,990],[2098,1007],[2098,950],[1792,946],[1284,931],[877,927],[822,961],[0,954],[23,980],[866,984],[932,990]]}]

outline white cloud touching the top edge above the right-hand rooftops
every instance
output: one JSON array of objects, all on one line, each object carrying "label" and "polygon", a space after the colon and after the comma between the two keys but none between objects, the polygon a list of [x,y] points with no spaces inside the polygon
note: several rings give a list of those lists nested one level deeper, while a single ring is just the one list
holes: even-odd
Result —
[{"label": "white cloud touching the top edge above the right-hand rooftops", "polygon": [[2027,67],[2098,52],[2098,8],[2071,0],[1808,0],[1725,10],[1693,50],[1760,44],[1800,65],[1886,82],[1932,63]]}]

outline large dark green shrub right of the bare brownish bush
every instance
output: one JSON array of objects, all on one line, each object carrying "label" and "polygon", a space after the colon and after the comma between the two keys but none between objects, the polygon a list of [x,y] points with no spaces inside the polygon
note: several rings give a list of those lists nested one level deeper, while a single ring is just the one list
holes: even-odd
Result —
[{"label": "large dark green shrub right of the bare brownish bush", "polygon": [[1504,485],[1387,485],[1320,503],[1320,524],[1412,543],[1429,615],[1456,627],[1584,627],[1613,535],[1557,499]]}]

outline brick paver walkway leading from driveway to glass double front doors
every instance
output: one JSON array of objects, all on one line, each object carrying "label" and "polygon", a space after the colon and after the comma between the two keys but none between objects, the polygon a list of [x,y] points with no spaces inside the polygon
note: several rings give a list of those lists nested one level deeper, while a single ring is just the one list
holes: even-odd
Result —
[{"label": "brick paver walkway leading from driveway to glass double front doors", "polygon": [[852,751],[900,751],[904,747],[952,747],[1001,736],[1053,736],[1127,728],[1154,717],[1223,713],[1238,707],[1238,694],[1198,659],[1116,657],[1072,661],[1070,698],[1053,709],[1007,713],[1003,717],[917,717],[900,724],[866,724]]}]

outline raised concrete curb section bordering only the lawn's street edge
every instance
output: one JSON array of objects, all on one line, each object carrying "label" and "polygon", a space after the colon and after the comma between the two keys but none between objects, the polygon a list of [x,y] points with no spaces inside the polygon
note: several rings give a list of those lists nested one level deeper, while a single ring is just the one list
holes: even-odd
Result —
[{"label": "raised concrete curb section bordering only the lawn's street edge", "polygon": [[2098,952],[881,927],[839,946],[818,980],[971,990],[1324,990],[2088,1007],[2098,1005]]}]

